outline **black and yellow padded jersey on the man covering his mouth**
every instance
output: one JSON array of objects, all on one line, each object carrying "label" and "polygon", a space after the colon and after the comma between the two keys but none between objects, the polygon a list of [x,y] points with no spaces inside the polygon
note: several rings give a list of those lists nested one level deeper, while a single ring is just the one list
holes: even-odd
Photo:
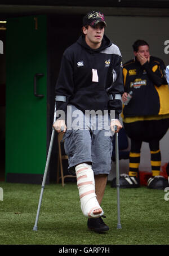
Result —
[{"label": "black and yellow padded jersey on the man covering his mouth", "polygon": [[135,59],[123,64],[124,90],[133,92],[131,101],[123,108],[124,118],[169,114],[165,69],[163,60],[152,56],[143,66]]}]

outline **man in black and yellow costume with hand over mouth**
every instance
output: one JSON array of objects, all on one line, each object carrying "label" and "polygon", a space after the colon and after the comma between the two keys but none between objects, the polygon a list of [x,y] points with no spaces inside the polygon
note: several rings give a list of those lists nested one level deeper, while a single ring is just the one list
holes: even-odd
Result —
[{"label": "man in black and yellow costume with hand over mouth", "polygon": [[[145,141],[150,147],[152,167],[148,188],[164,189],[168,186],[168,181],[159,176],[159,141],[169,127],[169,90],[164,73],[166,68],[163,60],[150,55],[149,45],[144,40],[137,40],[133,49],[135,58],[123,65],[123,124],[131,138],[131,150],[129,172],[128,175],[121,175],[120,184],[122,188],[140,186],[140,149]],[[128,96],[129,93],[131,96]],[[130,101],[125,104],[128,98]]]}]

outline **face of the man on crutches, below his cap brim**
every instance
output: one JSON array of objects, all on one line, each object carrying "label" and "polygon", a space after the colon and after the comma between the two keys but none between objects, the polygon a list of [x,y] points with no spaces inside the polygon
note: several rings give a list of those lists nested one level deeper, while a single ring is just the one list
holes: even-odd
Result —
[{"label": "face of the man on crutches, below his cap brim", "polygon": [[97,49],[100,47],[104,36],[104,25],[98,23],[94,28],[88,25],[88,28],[83,27],[83,33],[86,36],[86,44],[93,49]]}]

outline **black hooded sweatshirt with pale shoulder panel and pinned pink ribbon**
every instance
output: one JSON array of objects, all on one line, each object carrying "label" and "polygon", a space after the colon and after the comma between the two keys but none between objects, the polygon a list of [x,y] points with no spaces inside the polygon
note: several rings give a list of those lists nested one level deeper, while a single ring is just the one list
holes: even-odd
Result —
[{"label": "black hooded sweatshirt with pale shoulder panel and pinned pink ribbon", "polygon": [[121,53],[108,37],[104,35],[98,49],[91,49],[82,35],[64,51],[55,96],[65,96],[66,102],[57,101],[57,110],[66,112],[71,104],[83,112],[115,110],[118,118],[122,102],[114,97],[123,92]]}]

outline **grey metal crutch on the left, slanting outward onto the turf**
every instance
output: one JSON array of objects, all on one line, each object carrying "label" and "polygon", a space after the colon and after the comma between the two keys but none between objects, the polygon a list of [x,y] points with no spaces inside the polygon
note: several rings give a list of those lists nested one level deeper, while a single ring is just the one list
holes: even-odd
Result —
[{"label": "grey metal crutch on the left, slanting outward onto the turf", "polygon": [[[55,101],[55,111],[54,111],[54,123],[55,123],[55,120],[56,120],[56,101]],[[54,123],[53,123],[53,124],[54,124]],[[61,127],[61,132],[63,132],[63,131],[64,131],[64,127]],[[52,146],[53,146],[53,144],[54,144],[54,135],[55,135],[55,128],[54,128],[54,126],[52,126],[51,141],[50,141],[50,146],[49,146],[49,149],[48,149],[47,160],[46,160],[46,166],[45,166],[45,172],[44,172],[43,181],[42,181],[41,194],[40,194],[40,197],[39,197],[39,204],[38,204],[37,216],[36,216],[36,219],[35,219],[33,231],[37,231],[37,230],[38,230],[39,211],[40,211],[40,209],[41,209],[41,203],[42,203],[42,197],[43,197],[43,190],[45,189],[46,176],[47,176],[48,167],[49,167],[49,163],[50,163]]]}]

